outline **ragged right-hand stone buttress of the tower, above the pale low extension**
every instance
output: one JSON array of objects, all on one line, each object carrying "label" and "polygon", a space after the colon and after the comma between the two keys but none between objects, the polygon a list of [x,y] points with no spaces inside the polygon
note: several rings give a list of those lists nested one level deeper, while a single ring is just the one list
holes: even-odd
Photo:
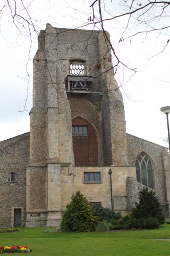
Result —
[{"label": "ragged right-hand stone buttress of the tower, above the pale low extension", "polygon": [[124,104],[121,91],[114,78],[112,55],[107,42],[109,34],[106,33],[106,35],[98,34],[100,72],[103,73],[100,76],[100,84],[104,94],[101,105],[103,143],[108,146],[108,148],[105,146],[106,160],[104,157],[104,163],[127,166]]}]

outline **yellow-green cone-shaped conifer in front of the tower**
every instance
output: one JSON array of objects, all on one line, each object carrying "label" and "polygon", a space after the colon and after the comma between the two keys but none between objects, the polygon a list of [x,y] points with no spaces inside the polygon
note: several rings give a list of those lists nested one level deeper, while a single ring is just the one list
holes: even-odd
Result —
[{"label": "yellow-green cone-shaped conifer in front of the tower", "polygon": [[91,206],[80,191],[72,195],[70,204],[67,204],[60,228],[62,231],[93,231],[97,226],[98,218],[92,214]]}]

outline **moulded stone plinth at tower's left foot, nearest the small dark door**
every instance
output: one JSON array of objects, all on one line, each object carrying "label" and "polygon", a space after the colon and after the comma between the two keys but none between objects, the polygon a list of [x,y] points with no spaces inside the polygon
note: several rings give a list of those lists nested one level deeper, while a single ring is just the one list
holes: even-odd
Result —
[{"label": "moulded stone plinth at tower's left foot, nearest the small dark door", "polygon": [[47,212],[27,212],[25,227],[45,227]]}]

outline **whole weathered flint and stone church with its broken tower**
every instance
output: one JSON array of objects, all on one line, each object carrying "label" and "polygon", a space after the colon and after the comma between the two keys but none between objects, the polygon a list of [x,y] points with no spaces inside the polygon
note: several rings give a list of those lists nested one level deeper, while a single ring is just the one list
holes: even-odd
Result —
[{"label": "whole weathered flint and stone church with its broken tower", "polygon": [[[71,76],[71,65],[83,66],[83,75]],[[134,166],[141,152],[154,166],[154,189],[167,213],[169,154],[125,133],[122,94],[103,32],[47,24],[33,60],[30,136],[0,142],[0,227],[15,224],[17,209],[21,225],[58,226],[77,190],[91,203],[112,208],[113,202],[115,211],[128,213],[143,187]]]}]

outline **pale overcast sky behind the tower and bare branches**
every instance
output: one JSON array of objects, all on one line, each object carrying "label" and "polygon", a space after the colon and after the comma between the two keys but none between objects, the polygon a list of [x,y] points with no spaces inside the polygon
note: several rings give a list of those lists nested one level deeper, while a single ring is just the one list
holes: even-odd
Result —
[{"label": "pale overcast sky behind the tower and bare branches", "polygon": [[[2,0],[3,2],[4,0]],[[31,1],[27,1],[30,3]],[[48,2],[48,1],[47,1]],[[46,23],[53,27],[76,28],[87,22],[92,3],[86,1],[34,1],[30,8],[32,17],[38,20],[38,31],[45,29]],[[121,1],[110,0],[109,10]],[[137,68],[138,72],[123,85],[122,93],[125,105],[126,131],[137,137],[167,146],[163,141],[167,137],[166,116],[160,112],[160,107],[170,106],[170,73],[169,73],[169,47],[154,58],[164,44],[165,36],[150,34],[131,38],[118,44],[122,23],[107,23],[106,30],[111,34],[111,41],[118,56],[128,65]],[[122,25],[123,24],[123,25]],[[84,27],[84,29],[92,27]],[[97,29],[97,27],[96,27]],[[1,94],[0,94],[0,141],[29,131],[29,110],[32,105],[32,82],[29,83],[29,99],[27,110],[23,110],[24,100],[27,97],[27,77],[25,63],[28,61],[29,37],[19,35],[10,21],[10,13],[6,12],[1,21]],[[37,35],[32,35],[32,48],[30,59],[33,59],[37,50]],[[32,75],[32,61],[29,62],[29,73]],[[125,71],[125,79],[129,78]],[[123,81],[123,70],[116,76],[118,84]],[[30,79],[32,79],[30,77]]]}]

